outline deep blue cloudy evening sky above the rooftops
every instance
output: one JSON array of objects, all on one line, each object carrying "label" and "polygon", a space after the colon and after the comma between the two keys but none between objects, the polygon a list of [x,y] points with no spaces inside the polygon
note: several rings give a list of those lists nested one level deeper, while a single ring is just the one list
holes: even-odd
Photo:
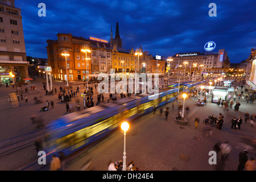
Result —
[{"label": "deep blue cloudy evening sky above the rooftops", "polygon": [[[46,16],[39,17],[39,3]],[[210,17],[210,3],[217,16]],[[27,56],[47,58],[46,40],[58,33],[110,39],[115,25],[125,49],[142,46],[151,55],[204,52],[209,41],[214,52],[226,49],[231,63],[240,63],[256,47],[256,1],[155,1],[155,0],[15,0],[23,16]]]}]

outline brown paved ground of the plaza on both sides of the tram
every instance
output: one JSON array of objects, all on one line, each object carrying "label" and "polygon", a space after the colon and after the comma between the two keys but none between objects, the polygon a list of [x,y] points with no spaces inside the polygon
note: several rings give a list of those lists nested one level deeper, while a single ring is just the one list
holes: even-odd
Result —
[{"label": "brown paved ground of the plaza on both sides of the tram", "polygon": [[[42,82],[45,80],[42,77],[36,77],[36,81],[32,81],[32,85],[36,86],[36,90],[30,93],[23,93],[23,96],[28,97],[28,103],[19,101],[19,105],[10,104],[8,101],[9,95],[15,92],[15,88],[0,88],[0,142],[14,138],[19,135],[37,131],[35,125],[31,124],[30,115],[36,113],[37,117],[42,117],[44,121],[50,122],[61,115],[68,114],[65,109],[65,104],[61,103],[57,94],[46,96]],[[172,81],[175,81],[172,80]],[[164,85],[164,80],[159,80],[160,84]],[[54,81],[53,87],[57,88],[64,86],[63,81]],[[80,93],[85,89],[84,82],[74,82],[73,84],[80,85]],[[236,83],[234,83],[236,84]],[[94,84],[90,85],[93,86]],[[29,88],[29,86],[28,86]],[[76,86],[74,87],[74,90]],[[30,90],[30,89],[29,89]],[[95,90],[95,89],[94,89]],[[238,90],[240,92],[240,90]],[[94,106],[96,106],[97,94],[94,93]],[[233,94],[233,93],[232,93]],[[33,98],[37,96],[43,101],[42,104],[34,104]],[[83,98],[77,94],[82,106]],[[105,103],[109,98],[109,94],[104,94]],[[72,98],[74,102],[76,98]],[[120,96],[118,97],[120,99]],[[39,112],[42,105],[46,105],[46,101],[53,101],[54,108],[49,106],[46,112]],[[178,103],[183,104],[183,99],[179,96]],[[185,106],[189,105],[190,112],[185,113],[185,118],[189,120],[188,125],[180,125],[174,121],[177,115],[177,104],[174,110],[170,109],[168,120],[164,115],[159,117],[159,110],[156,113],[150,113],[132,122],[127,131],[126,137],[126,152],[127,163],[131,160],[143,171],[171,171],[171,170],[200,170],[212,171],[214,166],[208,163],[209,151],[213,150],[213,146],[218,141],[229,141],[232,146],[232,152],[224,164],[224,170],[237,170],[238,154],[244,149],[251,150],[250,146],[255,147],[255,127],[250,126],[249,121],[244,122],[244,113],[249,114],[256,112],[255,103],[247,104],[246,101],[240,100],[241,106],[238,112],[233,109],[224,111],[223,107],[210,103],[210,98],[206,106],[197,106],[195,100],[185,100]],[[171,104],[168,106],[171,108]],[[165,107],[165,106],[164,106]],[[165,108],[164,108],[165,110]],[[210,114],[217,116],[219,113],[224,114],[224,125],[222,130],[213,128],[213,134],[210,137],[203,136],[203,119]],[[200,123],[195,129],[194,119],[199,116]],[[233,117],[242,117],[243,123],[241,130],[231,129],[231,120]],[[249,141],[249,142],[248,142]],[[251,144],[249,146],[249,144]],[[35,147],[30,146],[26,151],[20,151],[19,155],[2,155],[0,170],[16,169],[15,163],[26,163],[36,155]],[[255,149],[249,151],[248,154],[255,157]],[[82,164],[89,159],[93,162],[92,170],[105,171],[108,169],[110,161],[115,162],[122,160],[123,157],[123,134],[116,130],[108,138],[98,142],[94,147],[89,148],[84,154],[67,162],[66,170],[80,170]]]}]

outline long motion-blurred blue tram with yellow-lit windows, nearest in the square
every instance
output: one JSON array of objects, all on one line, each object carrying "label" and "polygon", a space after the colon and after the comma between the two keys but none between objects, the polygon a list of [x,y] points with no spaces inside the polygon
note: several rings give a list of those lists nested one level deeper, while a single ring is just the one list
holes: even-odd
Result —
[{"label": "long motion-blurred blue tram with yellow-lit windows, nearest in the square", "polygon": [[[85,110],[67,114],[47,126],[47,163],[53,154],[63,152],[66,156],[105,137],[117,129],[121,122],[131,122],[174,101],[177,88],[159,89],[158,94],[138,94]],[[152,100],[154,99],[154,100]]]}]

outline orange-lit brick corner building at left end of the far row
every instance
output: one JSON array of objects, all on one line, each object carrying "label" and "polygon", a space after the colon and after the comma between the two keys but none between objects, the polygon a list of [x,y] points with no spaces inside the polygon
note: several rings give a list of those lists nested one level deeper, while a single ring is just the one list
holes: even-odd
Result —
[{"label": "orange-lit brick corner building at left end of the far row", "polygon": [[[68,81],[84,81],[87,72],[92,74],[90,52],[81,51],[85,46],[92,48],[87,39],[72,34],[57,34],[57,40],[48,39],[46,42],[48,66],[52,67],[53,78],[67,80],[68,75]],[[63,56],[64,52],[69,56]]]}]

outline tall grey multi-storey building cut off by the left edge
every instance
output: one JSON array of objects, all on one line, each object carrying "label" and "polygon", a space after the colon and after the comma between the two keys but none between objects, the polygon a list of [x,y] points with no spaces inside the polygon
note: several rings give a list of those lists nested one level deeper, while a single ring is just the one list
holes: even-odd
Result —
[{"label": "tall grey multi-storey building cut off by the left edge", "polygon": [[0,1],[0,82],[23,81],[28,77],[28,62],[22,15],[14,0]]}]

